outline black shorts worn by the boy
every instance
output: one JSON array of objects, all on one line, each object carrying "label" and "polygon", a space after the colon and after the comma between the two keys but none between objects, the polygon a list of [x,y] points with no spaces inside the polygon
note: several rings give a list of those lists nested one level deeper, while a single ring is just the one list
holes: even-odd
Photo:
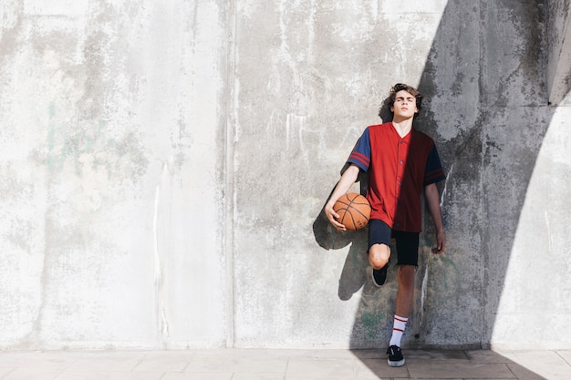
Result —
[{"label": "black shorts worn by the boy", "polygon": [[369,221],[369,249],[374,244],[386,244],[394,238],[397,249],[397,265],[419,265],[419,232],[392,231],[387,223],[379,219]]}]

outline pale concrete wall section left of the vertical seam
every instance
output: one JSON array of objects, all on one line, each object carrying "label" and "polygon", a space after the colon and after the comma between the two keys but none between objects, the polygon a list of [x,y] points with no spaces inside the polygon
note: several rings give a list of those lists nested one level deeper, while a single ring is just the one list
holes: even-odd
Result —
[{"label": "pale concrete wall section left of the vertical seam", "polygon": [[0,345],[224,344],[228,6],[0,10]]}]

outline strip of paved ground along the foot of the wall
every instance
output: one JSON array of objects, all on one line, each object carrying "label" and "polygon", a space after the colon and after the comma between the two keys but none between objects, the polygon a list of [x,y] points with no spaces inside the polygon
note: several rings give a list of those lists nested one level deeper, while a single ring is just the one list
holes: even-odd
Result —
[{"label": "strip of paved ground along the foot of the wall", "polygon": [[571,379],[571,350],[189,350],[0,353],[2,380]]}]

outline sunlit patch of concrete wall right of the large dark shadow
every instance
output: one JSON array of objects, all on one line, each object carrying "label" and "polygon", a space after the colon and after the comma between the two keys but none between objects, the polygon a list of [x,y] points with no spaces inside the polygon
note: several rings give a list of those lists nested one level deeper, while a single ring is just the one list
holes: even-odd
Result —
[{"label": "sunlit patch of concrete wall right of the large dark shadow", "polygon": [[[492,331],[491,342],[496,346],[532,349],[548,345],[568,347],[570,342],[566,332],[571,311],[567,301],[570,287],[566,272],[571,269],[571,261],[566,247],[571,242],[568,227],[571,204],[565,195],[571,174],[571,156],[568,154],[570,117],[569,108],[557,108],[545,131],[535,165],[526,170],[525,174],[529,175],[527,189],[513,183],[513,192],[504,193],[504,204],[510,200],[519,205],[519,220],[516,223],[499,221],[505,220],[503,213],[510,208],[494,201],[497,205],[497,210],[493,211],[498,219],[496,225],[510,237],[509,245],[508,241],[496,238],[498,244],[490,248],[490,255],[505,256],[501,262],[494,262],[499,262],[500,268],[507,267],[502,277],[504,291],[494,293],[491,289],[488,298],[488,329]],[[534,137],[533,133],[527,136],[529,139]],[[504,143],[504,147],[507,148],[507,144]],[[507,148],[498,156],[505,160],[506,155],[513,153],[514,148]],[[532,168],[526,164],[526,158],[520,160],[508,168],[518,169],[522,165]],[[508,212],[515,211],[514,207],[511,209]],[[493,268],[490,272],[498,271]],[[545,321],[548,321],[548,328],[545,328]]]}]

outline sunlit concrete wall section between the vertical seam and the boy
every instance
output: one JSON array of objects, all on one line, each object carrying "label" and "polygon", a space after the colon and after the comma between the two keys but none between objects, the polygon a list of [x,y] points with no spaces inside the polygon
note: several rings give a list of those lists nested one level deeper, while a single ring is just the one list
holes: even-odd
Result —
[{"label": "sunlit concrete wall section between the vertical seam and the boy", "polygon": [[255,296],[236,299],[236,345],[384,342],[394,282],[377,293],[366,282],[358,292],[366,234],[344,241],[349,252],[327,252],[316,241],[342,238],[316,219],[363,128],[379,121],[389,84],[420,81],[445,5],[240,8],[235,289]]}]

